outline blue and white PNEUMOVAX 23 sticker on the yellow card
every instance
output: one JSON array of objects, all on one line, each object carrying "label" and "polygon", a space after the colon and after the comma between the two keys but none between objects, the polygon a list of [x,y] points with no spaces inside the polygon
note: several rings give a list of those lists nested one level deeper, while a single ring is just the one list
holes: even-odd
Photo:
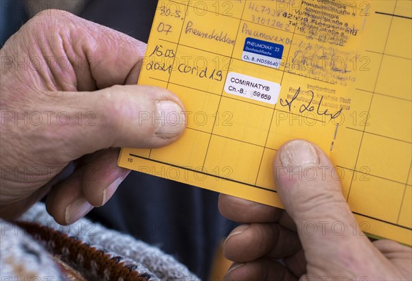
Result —
[{"label": "blue and white PNEUMOVAX 23 sticker on the yellow card", "polygon": [[244,41],[242,60],[278,69],[283,51],[283,45],[248,37]]}]

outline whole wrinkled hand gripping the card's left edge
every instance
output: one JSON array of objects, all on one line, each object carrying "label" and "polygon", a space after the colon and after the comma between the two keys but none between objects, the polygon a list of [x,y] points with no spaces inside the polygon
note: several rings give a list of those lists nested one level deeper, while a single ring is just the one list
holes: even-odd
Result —
[{"label": "whole wrinkled hand gripping the card's left edge", "polygon": [[176,95],[135,85],[145,49],[58,10],[34,16],[5,43],[1,217],[16,217],[49,192],[49,213],[73,223],[106,203],[128,175],[117,167],[115,148],[155,148],[181,135],[185,115]]}]

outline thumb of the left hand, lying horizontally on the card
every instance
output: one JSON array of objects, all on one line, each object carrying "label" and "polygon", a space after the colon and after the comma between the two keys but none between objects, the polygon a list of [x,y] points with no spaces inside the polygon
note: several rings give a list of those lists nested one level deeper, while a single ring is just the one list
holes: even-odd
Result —
[{"label": "thumb of the left hand, lying horizontally on the card", "polygon": [[53,101],[47,106],[52,106],[60,125],[52,130],[69,144],[69,160],[110,147],[165,146],[185,128],[183,103],[159,87],[113,86],[94,92],[58,92],[50,98]]}]

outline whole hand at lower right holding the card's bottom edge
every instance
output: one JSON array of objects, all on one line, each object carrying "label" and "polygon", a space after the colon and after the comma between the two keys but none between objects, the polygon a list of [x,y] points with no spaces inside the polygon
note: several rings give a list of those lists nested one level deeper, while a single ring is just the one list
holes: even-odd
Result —
[{"label": "whole hand at lower right holding the card's bottom edge", "polygon": [[220,212],[244,223],[225,241],[235,261],[227,280],[412,280],[411,248],[361,233],[332,167],[319,148],[295,140],[273,165],[286,211],[220,195]]}]

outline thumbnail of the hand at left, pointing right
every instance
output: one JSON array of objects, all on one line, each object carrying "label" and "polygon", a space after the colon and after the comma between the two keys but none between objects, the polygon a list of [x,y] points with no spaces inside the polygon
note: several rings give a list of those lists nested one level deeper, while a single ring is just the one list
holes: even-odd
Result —
[{"label": "thumbnail of the hand at left, pointing right", "polygon": [[157,102],[156,135],[170,139],[180,135],[186,124],[186,115],[181,106],[170,100]]}]

